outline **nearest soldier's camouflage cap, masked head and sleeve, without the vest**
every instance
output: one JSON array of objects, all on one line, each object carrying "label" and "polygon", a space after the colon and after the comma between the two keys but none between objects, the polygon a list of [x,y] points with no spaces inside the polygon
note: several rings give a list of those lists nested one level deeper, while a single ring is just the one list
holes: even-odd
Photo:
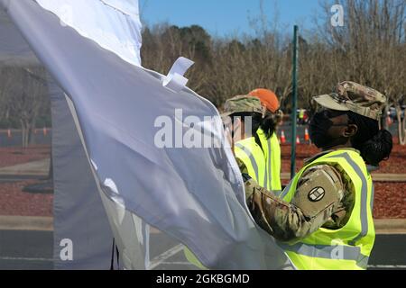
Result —
[{"label": "nearest soldier's camouflage cap, masked head and sleeve, without the vest", "polygon": [[[310,138],[323,151],[307,160],[305,165],[337,149],[360,153],[369,166],[378,166],[383,158],[389,157],[392,135],[377,128],[386,102],[383,94],[346,81],[337,85],[334,93],[314,97],[314,100],[324,110],[309,122]],[[356,120],[357,117],[361,120]],[[365,119],[376,121],[374,131],[362,126]],[[363,133],[366,135],[364,142],[355,145],[356,137]],[[370,145],[365,146],[365,143]],[[354,183],[341,166],[309,166],[300,176],[290,202],[281,200],[289,187],[282,195],[275,195],[246,175],[242,163],[239,166],[245,179],[246,202],[254,220],[281,241],[294,243],[320,228],[343,228],[354,209]],[[320,193],[314,193],[315,189]]]}]

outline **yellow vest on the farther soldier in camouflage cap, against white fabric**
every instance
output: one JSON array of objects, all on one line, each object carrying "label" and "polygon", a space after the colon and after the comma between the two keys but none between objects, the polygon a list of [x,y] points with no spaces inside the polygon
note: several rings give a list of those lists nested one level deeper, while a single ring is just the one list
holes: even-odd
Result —
[{"label": "yellow vest on the farther soldier in camouflage cap, against white fabric", "polygon": [[265,184],[265,159],[263,150],[256,144],[254,137],[235,143],[235,157],[243,161],[248,175],[259,185]]}]

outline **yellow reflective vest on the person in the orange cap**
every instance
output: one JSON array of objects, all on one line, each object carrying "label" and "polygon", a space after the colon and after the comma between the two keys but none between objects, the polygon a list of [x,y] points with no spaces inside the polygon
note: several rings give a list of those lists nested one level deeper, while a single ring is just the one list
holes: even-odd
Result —
[{"label": "yellow reflective vest on the person in the orange cap", "polygon": [[281,146],[279,145],[276,133],[273,133],[270,139],[266,139],[266,134],[262,129],[257,131],[258,137],[263,146],[265,155],[265,174],[267,182],[265,188],[271,190],[275,194],[281,193]]}]

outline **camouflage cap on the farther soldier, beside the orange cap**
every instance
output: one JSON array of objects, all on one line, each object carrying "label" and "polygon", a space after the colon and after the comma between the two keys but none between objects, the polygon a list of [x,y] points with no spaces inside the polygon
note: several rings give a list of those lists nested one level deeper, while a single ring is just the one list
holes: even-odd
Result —
[{"label": "camouflage cap on the farther soldier, beside the orange cap", "polygon": [[257,97],[238,95],[226,101],[224,111],[225,112],[221,114],[222,117],[239,112],[258,112],[263,115],[266,108]]}]

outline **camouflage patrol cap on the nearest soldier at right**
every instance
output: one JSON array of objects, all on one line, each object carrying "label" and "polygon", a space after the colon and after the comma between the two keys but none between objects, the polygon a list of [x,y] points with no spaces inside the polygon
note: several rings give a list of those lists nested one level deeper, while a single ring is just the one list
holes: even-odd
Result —
[{"label": "camouflage patrol cap on the nearest soldier at right", "polygon": [[386,96],[373,88],[345,81],[337,85],[336,91],[313,97],[313,99],[328,109],[352,111],[357,114],[379,120]]}]

